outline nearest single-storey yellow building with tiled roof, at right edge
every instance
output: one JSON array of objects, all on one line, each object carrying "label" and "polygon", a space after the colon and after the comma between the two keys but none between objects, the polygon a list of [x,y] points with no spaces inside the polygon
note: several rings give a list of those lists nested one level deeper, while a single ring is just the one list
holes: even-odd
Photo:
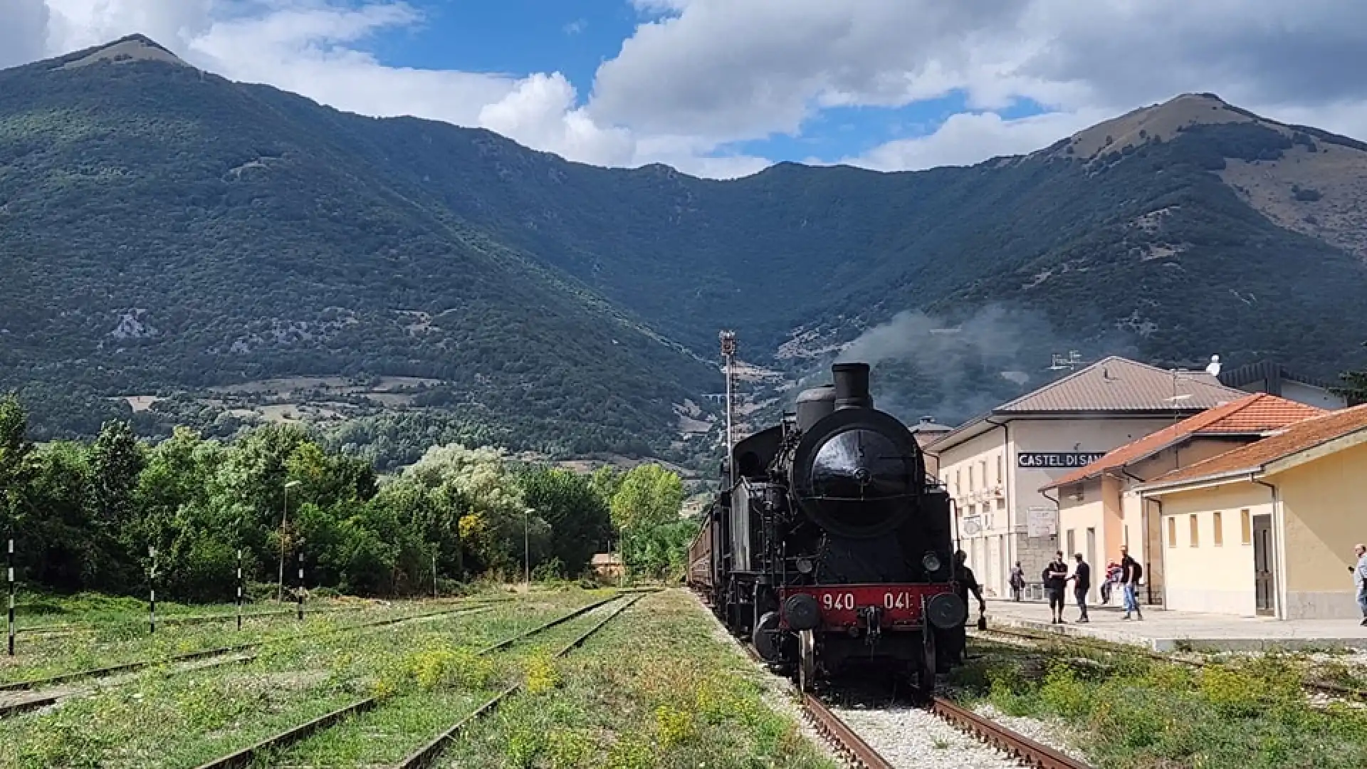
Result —
[{"label": "nearest single-storey yellow building with tiled roof, at right edge", "polygon": [[1158,505],[1170,609],[1356,618],[1349,566],[1367,540],[1367,405],[1333,410],[1174,469]]}]

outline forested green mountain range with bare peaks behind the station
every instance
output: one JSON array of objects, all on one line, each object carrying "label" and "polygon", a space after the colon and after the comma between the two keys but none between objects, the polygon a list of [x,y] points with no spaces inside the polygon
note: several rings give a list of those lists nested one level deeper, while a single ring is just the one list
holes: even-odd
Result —
[{"label": "forested green mountain range with bare peaks behind the station", "polygon": [[0,73],[0,386],[52,434],[128,395],[164,398],[146,430],[293,413],[684,461],[723,327],[776,371],[749,408],[852,342],[882,402],[942,421],[1064,349],[1331,378],[1367,339],[1364,182],[1367,145],[1213,94],[973,167],[608,170],[135,36]]}]

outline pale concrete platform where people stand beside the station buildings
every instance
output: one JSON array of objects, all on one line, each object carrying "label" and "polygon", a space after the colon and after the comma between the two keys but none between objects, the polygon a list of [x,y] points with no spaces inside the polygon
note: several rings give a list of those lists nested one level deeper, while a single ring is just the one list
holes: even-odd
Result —
[{"label": "pale concrete platform where people stand beside the station buildings", "polygon": [[[977,613],[969,616],[969,632]],[[1154,651],[1270,651],[1367,649],[1367,627],[1355,620],[1274,620],[1195,612],[1146,609],[1144,620],[1122,620],[1115,606],[1088,608],[1089,623],[1077,624],[1077,606],[1064,610],[1062,625],[1050,624],[1043,603],[988,599],[987,627],[1087,636],[1113,643],[1143,646]]]}]

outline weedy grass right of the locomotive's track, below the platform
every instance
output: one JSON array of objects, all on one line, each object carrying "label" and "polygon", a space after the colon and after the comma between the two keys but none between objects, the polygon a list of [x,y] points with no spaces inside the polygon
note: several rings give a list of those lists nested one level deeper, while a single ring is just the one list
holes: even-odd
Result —
[{"label": "weedy grass right of the locomotive's track, below the platform", "polygon": [[1105,665],[1046,653],[1036,675],[1021,654],[998,653],[953,680],[964,699],[1065,724],[1098,769],[1367,766],[1367,710],[1314,703],[1301,688],[1308,666],[1293,654],[1191,669],[1121,653]]}]

